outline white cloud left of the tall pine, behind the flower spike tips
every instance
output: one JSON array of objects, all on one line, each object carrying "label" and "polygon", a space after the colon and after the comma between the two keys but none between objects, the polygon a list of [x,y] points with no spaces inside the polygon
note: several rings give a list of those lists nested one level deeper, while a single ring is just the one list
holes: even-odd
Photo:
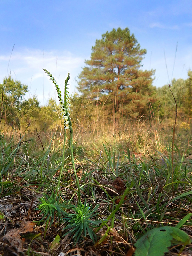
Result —
[{"label": "white cloud left of the tall pine, behind the flower spike tips", "polygon": [[0,55],[0,81],[3,81],[3,78],[7,76],[8,68],[8,75],[11,74],[13,79],[28,85],[30,92],[26,96],[31,97],[36,94],[38,100],[43,103],[44,94],[44,104],[51,97],[57,99],[57,94],[54,84],[49,81],[43,68],[52,73],[60,85],[61,91],[67,74],[70,72],[69,90],[73,92],[75,85],[77,85],[74,84],[75,77],[81,72],[81,67],[84,66],[83,58],[73,56],[66,51],[43,52],[39,49],[22,49],[16,52],[13,50],[8,67],[9,59],[10,54]]}]

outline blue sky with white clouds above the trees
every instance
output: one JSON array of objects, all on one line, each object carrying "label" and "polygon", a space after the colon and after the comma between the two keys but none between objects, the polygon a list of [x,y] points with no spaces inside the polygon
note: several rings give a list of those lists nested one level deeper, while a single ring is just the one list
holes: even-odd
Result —
[{"label": "blue sky with white clouds above the trees", "polygon": [[92,46],[113,28],[129,28],[147,50],[142,69],[155,69],[153,85],[187,79],[192,68],[191,0],[0,0],[0,81],[28,85],[25,98],[41,105],[57,99],[47,69],[70,93]]}]

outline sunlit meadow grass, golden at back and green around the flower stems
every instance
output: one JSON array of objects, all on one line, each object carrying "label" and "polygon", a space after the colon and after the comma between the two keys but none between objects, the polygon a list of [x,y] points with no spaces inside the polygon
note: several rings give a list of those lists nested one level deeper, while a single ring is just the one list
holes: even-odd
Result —
[{"label": "sunlit meadow grass, golden at back and green around the flower stems", "polygon": [[[62,165],[64,135],[56,134],[56,131],[56,128],[55,132],[50,133],[38,131],[39,137],[35,132],[28,133],[21,140],[15,131],[12,131],[12,135],[9,132],[1,133],[0,204],[5,196],[11,196],[12,202],[15,200],[16,204],[18,197],[28,198],[29,202],[33,197],[34,205],[50,203],[52,191],[58,186]],[[97,215],[90,215],[93,223],[98,223],[94,230],[95,236],[90,233],[92,240],[97,238],[95,247],[102,249],[105,242],[108,250],[115,250],[116,241],[121,241],[124,246],[120,248],[126,253],[141,234],[161,225],[174,226],[192,211],[192,159],[186,152],[190,146],[184,147],[183,140],[177,145],[179,137],[176,138],[172,183],[171,140],[165,140],[171,139],[171,132],[170,135],[163,134],[162,130],[155,130],[146,122],[141,124],[141,120],[139,123],[135,121],[127,124],[124,131],[122,127],[121,132],[115,134],[112,129],[98,132],[97,136],[93,136],[88,131],[74,131],[74,164],[79,179],[81,202],[82,205],[85,202],[92,205],[92,209],[98,207]],[[75,243],[70,233],[73,226],[65,222],[63,213],[65,211],[66,216],[73,219],[77,212],[69,205],[78,205],[68,140],[64,155],[58,197],[54,201],[61,213],[50,203],[52,215],[49,218],[42,219],[44,215],[39,211],[42,210],[41,207],[39,210],[32,208],[28,217],[28,220],[35,221],[40,227],[47,243],[51,242],[50,236],[59,234],[62,237],[66,232],[71,235],[65,238],[68,243]],[[123,199],[125,190],[119,192],[111,185],[116,177],[124,182],[126,195]],[[101,180],[105,180],[104,184]],[[38,199],[39,195],[45,201]],[[116,208],[121,199],[119,208]],[[118,211],[112,214],[116,209]],[[46,214],[48,212],[45,209],[45,217]],[[104,222],[101,224],[99,221]],[[43,226],[44,222],[46,226]],[[191,226],[191,220],[186,225]],[[87,246],[93,246],[93,242],[88,233],[85,235],[86,238],[77,234],[78,243],[82,243],[81,246],[86,250]],[[117,240],[117,236],[120,240]],[[55,255],[59,255],[59,252],[55,252]]]}]

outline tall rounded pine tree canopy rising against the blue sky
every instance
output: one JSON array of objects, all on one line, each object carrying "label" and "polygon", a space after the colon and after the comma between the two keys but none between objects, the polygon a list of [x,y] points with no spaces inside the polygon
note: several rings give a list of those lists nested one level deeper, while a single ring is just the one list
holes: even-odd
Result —
[{"label": "tall rounded pine tree canopy rising against the blue sky", "polygon": [[79,75],[79,92],[93,102],[103,101],[110,113],[146,114],[152,100],[154,70],[142,71],[146,54],[128,28],[113,29],[96,40],[91,59]]}]

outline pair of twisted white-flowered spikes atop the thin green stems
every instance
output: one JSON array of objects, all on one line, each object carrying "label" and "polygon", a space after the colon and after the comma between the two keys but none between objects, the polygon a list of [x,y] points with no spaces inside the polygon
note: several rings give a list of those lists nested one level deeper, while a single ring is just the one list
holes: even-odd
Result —
[{"label": "pair of twisted white-flowered spikes atop the thin green stems", "polygon": [[59,85],[57,84],[57,81],[55,80],[55,78],[52,76],[52,74],[47,71],[46,69],[43,69],[48,76],[50,76],[50,79],[52,80],[53,84],[56,87],[57,90],[57,95],[59,98],[59,102],[60,102],[60,108],[62,111],[62,115],[63,115],[63,119],[64,119],[64,126],[65,129],[69,129],[71,126],[71,120],[70,120],[70,113],[69,113],[69,107],[70,107],[70,103],[69,103],[69,92],[68,92],[68,80],[70,79],[70,75],[68,73],[67,78],[65,80],[65,95],[64,95],[64,102],[62,100],[62,95],[61,95],[61,91],[59,88]]}]

